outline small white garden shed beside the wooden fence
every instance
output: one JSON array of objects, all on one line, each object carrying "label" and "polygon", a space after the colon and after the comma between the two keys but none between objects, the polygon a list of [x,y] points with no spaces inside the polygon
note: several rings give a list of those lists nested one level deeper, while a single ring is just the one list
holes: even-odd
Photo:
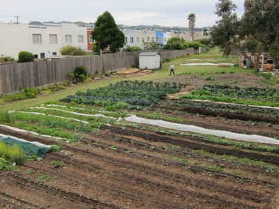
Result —
[{"label": "small white garden shed beside the wooden fence", "polygon": [[142,52],[139,54],[140,69],[160,68],[160,54],[158,52]]}]

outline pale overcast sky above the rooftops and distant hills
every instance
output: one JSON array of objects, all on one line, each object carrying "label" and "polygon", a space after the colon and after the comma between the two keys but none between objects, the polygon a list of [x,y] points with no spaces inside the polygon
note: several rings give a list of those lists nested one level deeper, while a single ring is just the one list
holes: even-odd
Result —
[{"label": "pale overcast sky above the rooftops and distant hills", "polygon": [[[232,0],[243,14],[244,0]],[[0,22],[82,21],[96,22],[109,11],[116,24],[188,27],[187,17],[196,15],[196,27],[213,26],[217,0],[0,0]]]}]

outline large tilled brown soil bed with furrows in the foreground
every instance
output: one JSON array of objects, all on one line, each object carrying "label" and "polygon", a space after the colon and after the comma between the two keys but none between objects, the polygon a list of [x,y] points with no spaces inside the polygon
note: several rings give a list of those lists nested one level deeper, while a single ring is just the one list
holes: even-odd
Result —
[{"label": "large tilled brown soil bed with furrows in the foreground", "polygon": [[[142,134],[151,134],[143,130],[138,131]],[[27,138],[28,136],[29,134]],[[171,138],[182,140],[177,137]],[[31,138],[33,139],[34,137]],[[224,171],[210,171],[204,167],[206,158],[202,156],[189,157],[188,161],[181,160],[186,158],[186,152],[195,155],[189,148],[181,146],[179,150],[171,148],[160,150],[160,147],[168,145],[168,141],[154,142],[144,137],[124,136],[113,130],[84,134],[81,143],[64,146],[59,153],[49,153],[41,162],[27,162],[20,167],[20,171],[2,172],[1,206],[3,208],[267,208],[269,206],[274,189],[277,187],[278,171],[261,178],[250,176],[238,178],[229,173],[231,168],[225,162],[223,162]],[[64,162],[66,167],[54,167],[53,161]],[[192,161],[201,163],[190,165]],[[209,164],[206,166],[215,164],[207,162]],[[246,169],[242,171],[246,173]],[[248,171],[264,173],[260,167],[247,168],[247,174]],[[41,182],[42,176],[48,176],[49,179]],[[275,201],[274,197],[273,199]],[[271,206],[273,207],[273,202]]]}]

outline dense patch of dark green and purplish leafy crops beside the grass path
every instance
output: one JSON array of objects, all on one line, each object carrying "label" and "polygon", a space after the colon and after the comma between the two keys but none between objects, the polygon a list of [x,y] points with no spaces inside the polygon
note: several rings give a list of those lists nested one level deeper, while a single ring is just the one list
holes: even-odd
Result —
[{"label": "dense patch of dark green and purplish leafy crops beside the grass path", "polygon": [[175,82],[160,84],[144,81],[122,81],[103,88],[88,89],[85,92],[79,91],[75,95],[68,95],[61,101],[103,107],[115,105],[116,108],[128,107],[128,105],[144,107],[164,100],[168,93],[178,93],[182,86],[182,84]]}]

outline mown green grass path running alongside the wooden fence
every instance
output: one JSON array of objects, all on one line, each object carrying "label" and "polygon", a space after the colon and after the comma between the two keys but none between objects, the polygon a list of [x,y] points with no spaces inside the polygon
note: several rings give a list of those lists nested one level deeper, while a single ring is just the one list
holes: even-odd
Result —
[{"label": "mown green grass path running alongside the wooden fence", "polygon": [[[252,73],[253,70],[243,70],[242,68],[232,67],[232,68],[218,68],[218,66],[180,66],[179,64],[183,63],[186,59],[202,59],[202,58],[216,58],[222,59],[222,53],[218,52],[218,49],[214,49],[213,51],[206,52],[204,54],[199,54],[190,57],[183,57],[179,59],[172,59],[172,63],[176,65],[175,73],[176,75],[182,75],[185,73],[201,73],[201,72],[237,72],[237,73]],[[234,61],[234,58],[229,58]],[[141,77],[129,77],[130,80],[146,80],[146,81],[158,81],[160,79],[164,79],[169,77],[169,65],[170,62],[165,62],[162,65],[162,69],[155,70],[153,73],[149,75],[144,75]],[[107,86],[109,84],[116,84],[116,82],[120,82],[121,80],[126,80],[126,77],[108,77],[105,79],[93,80],[84,84],[77,84],[75,86],[69,86],[66,89],[61,91],[54,91],[50,94],[42,94],[37,95],[37,98],[27,99],[27,100],[19,100],[15,102],[8,102],[6,104],[1,105],[2,111],[10,111],[10,110],[20,110],[26,109],[28,107],[33,107],[38,104],[43,104],[49,101],[58,101],[61,98],[65,98],[67,95],[73,95],[77,91],[86,91],[88,88],[98,88]]]}]

